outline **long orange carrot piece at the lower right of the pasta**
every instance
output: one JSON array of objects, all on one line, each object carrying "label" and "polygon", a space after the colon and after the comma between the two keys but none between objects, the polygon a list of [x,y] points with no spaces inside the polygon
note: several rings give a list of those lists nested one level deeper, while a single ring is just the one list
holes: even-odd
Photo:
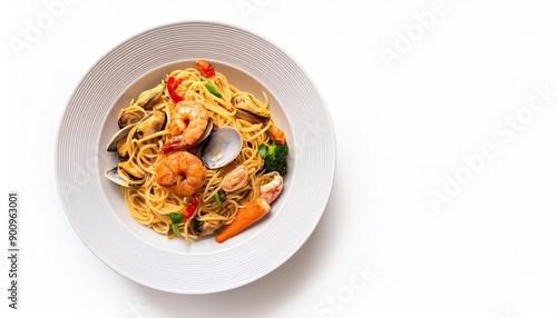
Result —
[{"label": "long orange carrot piece at the lower right of the pasta", "polygon": [[265,200],[256,198],[238,210],[234,220],[215,237],[216,241],[224,242],[234,237],[248,226],[255,223],[258,219],[263,218],[270,210],[271,206]]}]

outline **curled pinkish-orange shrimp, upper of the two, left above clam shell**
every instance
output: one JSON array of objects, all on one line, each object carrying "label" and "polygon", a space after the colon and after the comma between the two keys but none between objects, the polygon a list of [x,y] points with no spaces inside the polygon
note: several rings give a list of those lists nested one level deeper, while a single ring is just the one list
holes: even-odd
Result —
[{"label": "curled pinkish-orange shrimp, upper of the two, left above clam shell", "polygon": [[168,153],[194,145],[205,132],[209,119],[207,109],[193,100],[183,100],[170,110],[170,133],[160,151]]}]

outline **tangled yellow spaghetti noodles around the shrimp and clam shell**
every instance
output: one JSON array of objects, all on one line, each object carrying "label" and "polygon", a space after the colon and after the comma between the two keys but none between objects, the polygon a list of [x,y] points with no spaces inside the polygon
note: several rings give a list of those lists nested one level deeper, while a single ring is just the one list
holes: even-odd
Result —
[{"label": "tangled yellow spaghetti noodles around the shrimp and clam shell", "polygon": [[[188,68],[185,70],[175,70],[166,76],[165,81],[169,77],[180,79],[182,83],[176,89],[176,92],[185,99],[194,100],[208,110],[209,117],[215,128],[231,126],[236,128],[243,137],[243,147],[240,155],[234,160],[233,165],[244,165],[248,170],[248,182],[244,187],[226,193],[226,199],[218,206],[215,200],[215,195],[222,192],[221,183],[224,176],[231,169],[232,165],[216,170],[207,170],[206,182],[203,188],[196,193],[199,200],[195,211],[195,217],[180,222],[180,236],[189,244],[190,239],[199,239],[201,236],[194,231],[193,219],[198,221],[218,222],[219,225],[229,223],[240,208],[246,206],[250,201],[260,196],[260,187],[273,180],[277,172],[265,172],[263,169],[264,161],[258,153],[257,146],[268,143],[271,141],[267,130],[273,126],[276,127],[274,118],[265,123],[251,123],[246,120],[236,117],[236,109],[231,103],[231,99],[242,93],[241,90],[229,85],[226,77],[216,73],[211,82],[222,93],[222,98],[212,95],[202,81],[202,76],[198,70]],[[268,99],[263,92],[265,102],[261,107],[268,109]],[[170,110],[174,102],[169,98],[168,91],[165,90],[163,97],[149,110],[144,110],[140,107],[134,106],[131,100],[130,106],[126,111],[137,111],[147,117],[153,110],[164,111],[166,118],[170,118]],[[137,125],[134,127],[126,140],[129,159],[127,159],[135,169],[140,170],[145,175],[145,182],[135,188],[121,187],[126,205],[131,217],[139,223],[153,228],[156,232],[166,235],[168,238],[174,238],[172,230],[172,220],[168,217],[172,212],[184,212],[185,208],[192,201],[192,198],[183,198],[168,191],[159,186],[156,180],[156,165],[162,160],[159,149],[165,141],[170,137],[169,120],[167,120],[164,130],[146,136],[143,139],[135,138]],[[192,153],[199,157],[201,149],[187,149]]]}]

